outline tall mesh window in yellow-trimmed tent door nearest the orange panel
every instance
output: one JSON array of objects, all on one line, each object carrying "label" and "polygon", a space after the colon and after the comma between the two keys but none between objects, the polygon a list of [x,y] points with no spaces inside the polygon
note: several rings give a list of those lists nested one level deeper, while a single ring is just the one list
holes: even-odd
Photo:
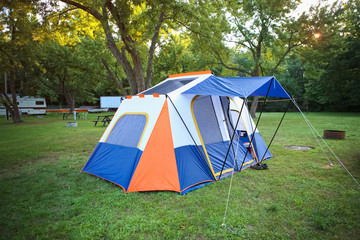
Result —
[{"label": "tall mesh window in yellow-trimmed tent door nearest the orange panel", "polygon": [[223,139],[211,97],[198,97],[194,101],[193,112],[204,144],[221,142]]}]

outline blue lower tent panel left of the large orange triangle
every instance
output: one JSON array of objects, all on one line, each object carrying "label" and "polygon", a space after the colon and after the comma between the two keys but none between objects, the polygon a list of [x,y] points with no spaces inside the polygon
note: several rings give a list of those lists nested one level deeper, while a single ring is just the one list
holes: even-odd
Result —
[{"label": "blue lower tent panel left of the large orange triangle", "polygon": [[120,185],[127,191],[142,151],[109,143],[98,143],[82,172]]}]

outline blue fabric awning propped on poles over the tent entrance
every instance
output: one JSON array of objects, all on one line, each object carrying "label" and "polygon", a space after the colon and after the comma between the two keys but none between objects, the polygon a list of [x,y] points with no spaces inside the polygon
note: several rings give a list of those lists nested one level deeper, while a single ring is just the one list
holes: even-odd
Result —
[{"label": "blue fabric awning propped on poles over the tent entrance", "polygon": [[266,96],[290,98],[275,77],[216,77],[209,76],[182,94],[213,96]]}]

